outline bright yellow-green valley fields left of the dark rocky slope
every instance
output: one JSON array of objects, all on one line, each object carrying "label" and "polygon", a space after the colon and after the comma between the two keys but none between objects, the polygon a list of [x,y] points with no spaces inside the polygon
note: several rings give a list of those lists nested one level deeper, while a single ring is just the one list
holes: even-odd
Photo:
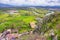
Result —
[{"label": "bright yellow-green valley fields left of the dark rocky slope", "polygon": [[[40,10],[40,9],[28,9],[28,10],[16,10],[18,13],[10,14],[10,12],[7,13],[9,9],[0,10],[0,32],[2,32],[5,29],[8,28],[15,28],[19,29],[19,32],[29,31],[32,30],[30,27],[30,22],[35,21],[35,18],[44,15],[46,10]],[[33,10],[33,11],[32,11]],[[42,12],[44,11],[44,12]],[[33,12],[39,13],[38,15],[35,15]],[[41,16],[40,16],[41,17]]]}]

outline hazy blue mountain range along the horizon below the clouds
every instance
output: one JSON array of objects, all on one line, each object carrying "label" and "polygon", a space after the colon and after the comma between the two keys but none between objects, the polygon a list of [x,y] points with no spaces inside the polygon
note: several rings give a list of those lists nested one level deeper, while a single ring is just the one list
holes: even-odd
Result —
[{"label": "hazy blue mountain range along the horizon below the clouds", "polygon": [[29,8],[29,7],[35,7],[35,8],[58,8],[60,9],[60,6],[27,6],[27,5],[23,5],[23,6],[13,6],[13,5],[9,5],[9,4],[3,4],[0,3],[0,8]]}]

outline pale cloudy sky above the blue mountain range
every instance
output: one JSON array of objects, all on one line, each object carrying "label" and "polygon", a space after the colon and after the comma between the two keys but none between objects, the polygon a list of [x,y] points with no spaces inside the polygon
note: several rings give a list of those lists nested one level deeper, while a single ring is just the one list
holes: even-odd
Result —
[{"label": "pale cloudy sky above the blue mountain range", "polygon": [[60,6],[60,0],[0,0],[0,3],[15,6]]}]

